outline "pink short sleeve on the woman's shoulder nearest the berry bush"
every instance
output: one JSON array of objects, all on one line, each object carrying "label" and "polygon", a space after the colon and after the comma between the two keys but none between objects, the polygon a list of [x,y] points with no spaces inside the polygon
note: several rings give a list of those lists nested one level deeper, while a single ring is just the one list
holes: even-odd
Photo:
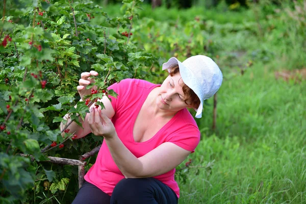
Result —
[{"label": "pink short sleeve on the woman's shoulder nearest the berry bush", "polygon": [[129,92],[133,82],[134,82],[133,79],[124,79],[121,80],[120,82],[114,83],[113,85],[107,88],[108,90],[112,89],[114,92],[118,94],[117,97],[111,95],[108,96],[111,99],[111,104],[115,112],[120,108],[120,105],[125,100],[126,96],[128,95],[127,93]]}]

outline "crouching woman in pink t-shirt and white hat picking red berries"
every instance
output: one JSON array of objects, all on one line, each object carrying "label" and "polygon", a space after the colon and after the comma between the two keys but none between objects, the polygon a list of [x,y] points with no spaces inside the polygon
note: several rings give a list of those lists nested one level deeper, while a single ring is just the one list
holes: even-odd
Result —
[{"label": "crouching woman in pink t-shirt and white hat picking red berries", "polygon": [[[193,56],[183,63],[171,58],[163,64],[168,77],[162,85],[125,79],[115,83],[117,98],[103,97],[105,109],[90,107],[82,129],[70,124],[78,138],[90,132],[103,136],[95,164],[84,176],[75,197],[77,203],[177,203],[179,187],[175,167],[199,143],[200,132],[187,108],[200,118],[203,100],[213,96],[222,83],[217,64],[206,56]],[[81,74],[77,87],[81,99],[90,94],[93,82]],[[62,125],[63,126],[63,125]]]}]

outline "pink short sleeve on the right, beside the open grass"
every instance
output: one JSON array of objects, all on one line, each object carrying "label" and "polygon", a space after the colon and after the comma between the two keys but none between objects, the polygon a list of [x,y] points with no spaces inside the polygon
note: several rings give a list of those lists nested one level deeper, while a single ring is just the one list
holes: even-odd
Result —
[{"label": "pink short sleeve on the right, beside the open grass", "polygon": [[186,125],[186,127],[172,133],[170,136],[167,142],[172,142],[183,149],[191,151],[191,153],[194,152],[200,142],[200,131],[198,127],[192,124]]}]

